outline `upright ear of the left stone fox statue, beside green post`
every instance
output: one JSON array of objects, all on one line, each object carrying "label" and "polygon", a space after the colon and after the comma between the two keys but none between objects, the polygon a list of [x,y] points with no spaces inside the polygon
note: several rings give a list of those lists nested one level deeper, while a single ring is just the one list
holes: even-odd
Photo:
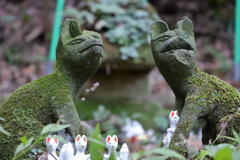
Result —
[{"label": "upright ear of the left stone fox statue, beside green post", "polygon": [[61,32],[61,41],[66,43],[70,39],[82,34],[79,23],[76,19],[66,19]]}]

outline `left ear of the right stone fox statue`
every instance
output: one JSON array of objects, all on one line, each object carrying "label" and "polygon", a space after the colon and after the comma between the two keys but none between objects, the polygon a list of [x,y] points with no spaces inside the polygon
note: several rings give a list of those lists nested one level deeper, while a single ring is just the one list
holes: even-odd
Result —
[{"label": "left ear of the right stone fox statue", "polygon": [[169,29],[166,22],[163,22],[161,20],[155,21],[151,24],[151,27],[150,27],[151,38],[154,39],[160,34],[162,34],[163,32],[166,32],[168,30]]}]

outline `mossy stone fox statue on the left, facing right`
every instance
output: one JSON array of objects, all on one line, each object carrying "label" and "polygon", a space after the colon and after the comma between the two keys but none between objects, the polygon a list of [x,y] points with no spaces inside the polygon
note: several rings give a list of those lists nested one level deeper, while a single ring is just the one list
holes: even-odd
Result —
[{"label": "mossy stone fox statue on the left, facing right", "polygon": [[99,68],[102,47],[100,34],[82,32],[74,19],[64,22],[54,71],[16,90],[1,107],[0,117],[6,120],[2,125],[11,132],[10,137],[0,134],[1,159],[11,159],[21,136],[36,137],[43,126],[55,123],[61,115],[65,124],[71,124],[71,137],[86,135],[73,98]]}]

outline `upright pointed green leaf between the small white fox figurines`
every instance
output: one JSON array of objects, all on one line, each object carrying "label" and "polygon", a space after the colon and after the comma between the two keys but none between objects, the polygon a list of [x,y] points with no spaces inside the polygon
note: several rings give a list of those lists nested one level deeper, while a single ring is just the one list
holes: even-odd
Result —
[{"label": "upright pointed green leaf between the small white fox figurines", "polygon": [[[100,130],[99,130],[99,123],[96,125],[96,129],[93,133],[92,139],[95,139],[96,141],[102,141]],[[102,144],[95,143],[95,142],[91,143],[89,151],[90,151],[91,159],[93,160],[103,159],[104,147],[102,146]]]}]

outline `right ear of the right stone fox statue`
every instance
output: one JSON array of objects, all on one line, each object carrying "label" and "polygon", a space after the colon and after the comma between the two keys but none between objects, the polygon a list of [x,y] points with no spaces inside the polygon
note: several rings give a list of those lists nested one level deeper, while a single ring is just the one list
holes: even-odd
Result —
[{"label": "right ear of the right stone fox statue", "polygon": [[176,29],[181,29],[189,34],[193,34],[193,24],[190,19],[183,17],[182,20],[178,21],[176,24]]}]

